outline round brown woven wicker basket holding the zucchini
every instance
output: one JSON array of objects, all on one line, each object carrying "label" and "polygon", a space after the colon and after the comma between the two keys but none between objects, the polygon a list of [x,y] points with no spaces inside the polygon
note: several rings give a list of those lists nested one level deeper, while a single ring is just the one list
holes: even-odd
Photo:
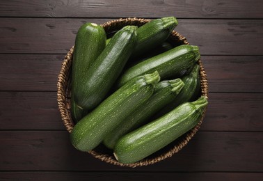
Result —
[{"label": "round brown woven wicker basket holding the zucchini", "polygon": [[[110,22],[106,22],[104,24],[101,24],[101,26],[104,27],[106,33],[112,33],[114,31],[118,31],[119,29],[121,29],[123,26],[126,25],[141,26],[147,22],[150,22],[150,19],[142,19],[135,17],[126,18],[126,19],[121,18],[121,19],[112,20]],[[177,45],[182,45],[182,44],[189,45],[189,42],[187,42],[186,38],[181,36],[176,31],[173,31],[173,33],[171,33],[171,36],[169,38]],[[62,63],[61,72],[58,74],[58,84],[57,84],[58,109],[61,112],[61,118],[68,132],[71,132],[74,127],[74,123],[70,116],[70,70],[72,65],[73,50],[74,47],[72,47],[70,51],[67,53],[67,55],[65,56],[65,59]],[[202,89],[201,94],[208,98],[207,75],[205,73],[201,60],[199,60],[198,63],[200,65],[200,79],[201,79],[201,89]],[[104,148],[103,145],[100,145],[98,148],[91,150],[89,153],[94,157],[96,157],[97,159],[118,166],[136,167],[136,166],[147,166],[150,164],[154,164],[168,157],[172,157],[172,155],[180,151],[191,140],[193,135],[196,134],[196,132],[200,128],[200,125],[202,124],[202,120],[204,117],[205,117],[205,111],[202,114],[202,118],[200,119],[200,122],[198,123],[198,125],[196,125],[196,127],[191,129],[189,132],[181,136],[173,143],[167,145],[165,148],[159,150],[153,155],[150,155],[149,157],[139,162],[136,162],[134,164],[121,164],[113,157],[113,152]]]}]

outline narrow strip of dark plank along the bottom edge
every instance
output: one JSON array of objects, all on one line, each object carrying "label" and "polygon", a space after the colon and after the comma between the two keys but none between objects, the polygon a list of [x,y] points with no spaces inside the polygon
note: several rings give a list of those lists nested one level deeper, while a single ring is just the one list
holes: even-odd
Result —
[{"label": "narrow strip of dark plank along the bottom edge", "polygon": [[149,173],[149,172],[1,172],[1,180],[203,180],[260,181],[263,173]]}]

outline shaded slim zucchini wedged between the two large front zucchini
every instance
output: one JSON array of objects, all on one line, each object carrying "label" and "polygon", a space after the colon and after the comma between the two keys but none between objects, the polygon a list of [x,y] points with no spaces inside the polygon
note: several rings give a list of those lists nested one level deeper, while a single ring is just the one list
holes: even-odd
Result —
[{"label": "shaded slim zucchini wedged between the two large front zucchini", "polygon": [[106,135],[103,143],[107,148],[114,148],[115,143],[121,136],[127,134],[131,130],[143,125],[150,116],[163,108],[166,104],[175,100],[176,95],[180,93],[184,83],[181,79],[170,81],[161,81],[154,88],[154,94],[141,107],[138,107],[134,112],[122,122],[116,129]]}]

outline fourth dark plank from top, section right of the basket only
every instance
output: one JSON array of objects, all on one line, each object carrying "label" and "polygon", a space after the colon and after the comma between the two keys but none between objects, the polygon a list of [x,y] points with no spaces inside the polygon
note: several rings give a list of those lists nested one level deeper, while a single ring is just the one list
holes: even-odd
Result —
[{"label": "fourth dark plank from top, section right of the basket only", "polygon": [[203,131],[263,131],[263,94],[210,93]]}]

